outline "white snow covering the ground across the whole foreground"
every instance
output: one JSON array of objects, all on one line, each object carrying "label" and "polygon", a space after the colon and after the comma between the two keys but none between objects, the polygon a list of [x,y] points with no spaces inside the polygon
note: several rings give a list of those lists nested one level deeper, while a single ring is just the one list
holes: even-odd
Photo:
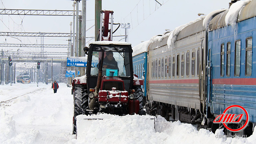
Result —
[{"label": "white snow covering the ground across the whole foreground", "polygon": [[0,104],[0,143],[253,144],[256,141],[256,132],[248,138],[227,138],[221,130],[215,134],[206,129],[197,131],[191,124],[167,122],[160,116],[156,118],[154,129],[138,115],[121,118],[106,114],[102,115],[109,117],[108,120],[91,122],[87,131],[75,139],[72,135],[71,88],[64,83],[59,85],[56,94],[51,85],[42,83],[38,87],[36,83],[0,85],[0,102],[23,95]]}]

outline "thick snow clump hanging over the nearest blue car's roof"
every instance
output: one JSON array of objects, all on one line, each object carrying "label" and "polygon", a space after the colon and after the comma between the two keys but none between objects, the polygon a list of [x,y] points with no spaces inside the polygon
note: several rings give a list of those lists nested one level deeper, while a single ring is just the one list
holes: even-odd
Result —
[{"label": "thick snow clump hanging over the nearest blue car's roof", "polygon": [[236,3],[232,4],[229,8],[229,11],[227,12],[227,15],[225,17],[225,23],[226,25],[231,25],[233,29],[236,29],[236,22],[237,17],[240,12],[240,10],[250,2],[251,0],[245,0],[245,1],[237,1]]}]

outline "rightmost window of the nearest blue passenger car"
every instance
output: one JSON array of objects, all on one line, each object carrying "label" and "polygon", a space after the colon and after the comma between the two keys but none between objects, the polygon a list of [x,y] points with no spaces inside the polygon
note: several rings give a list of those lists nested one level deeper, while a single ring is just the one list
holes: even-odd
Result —
[{"label": "rightmost window of the nearest blue passenger car", "polygon": [[245,75],[252,75],[252,37],[246,39]]}]

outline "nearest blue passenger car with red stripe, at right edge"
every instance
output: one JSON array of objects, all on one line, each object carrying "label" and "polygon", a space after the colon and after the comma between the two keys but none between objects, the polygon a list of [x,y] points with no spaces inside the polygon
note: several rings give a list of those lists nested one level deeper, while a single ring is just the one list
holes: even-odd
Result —
[{"label": "nearest blue passenger car with red stripe, at right edge", "polygon": [[[242,8],[235,27],[225,25],[228,10],[211,20],[207,85],[211,113],[219,115],[230,105],[240,105],[247,110],[249,121],[253,123],[256,122],[255,6],[254,0]],[[232,110],[235,114],[242,112]]]}]

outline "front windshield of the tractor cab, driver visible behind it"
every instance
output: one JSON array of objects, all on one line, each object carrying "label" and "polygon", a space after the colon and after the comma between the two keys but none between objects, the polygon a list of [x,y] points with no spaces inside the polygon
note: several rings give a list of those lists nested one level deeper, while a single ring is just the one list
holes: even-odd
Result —
[{"label": "front windshield of the tractor cab, driver visible behind it", "polygon": [[102,46],[102,49],[105,50],[104,53],[101,51],[99,47],[94,47],[91,62],[91,76],[98,76],[102,53],[104,54],[102,76],[109,76],[110,71],[114,71],[114,76],[118,77],[131,76],[128,47],[114,48]]}]

